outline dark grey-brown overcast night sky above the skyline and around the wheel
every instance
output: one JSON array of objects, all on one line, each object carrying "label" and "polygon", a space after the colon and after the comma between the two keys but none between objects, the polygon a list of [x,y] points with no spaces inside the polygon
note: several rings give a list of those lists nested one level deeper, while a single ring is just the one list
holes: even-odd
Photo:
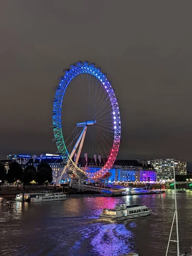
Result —
[{"label": "dark grey-brown overcast night sky above the skyline and around the wheel", "polygon": [[55,153],[57,77],[89,60],[116,90],[119,158],[192,162],[191,10],[191,0],[1,1],[0,158]]}]

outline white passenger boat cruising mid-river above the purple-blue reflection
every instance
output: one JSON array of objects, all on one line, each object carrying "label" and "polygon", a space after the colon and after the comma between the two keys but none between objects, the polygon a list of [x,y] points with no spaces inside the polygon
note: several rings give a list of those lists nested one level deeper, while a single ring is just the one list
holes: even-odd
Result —
[{"label": "white passenger boat cruising mid-river above the purple-blue reflection", "polygon": [[151,209],[144,205],[132,205],[126,204],[116,205],[114,209],[103,209],[103,212],[99,215],[101,219],[111,220],[127,220],[130,218],[144,217],[152,212]]}]

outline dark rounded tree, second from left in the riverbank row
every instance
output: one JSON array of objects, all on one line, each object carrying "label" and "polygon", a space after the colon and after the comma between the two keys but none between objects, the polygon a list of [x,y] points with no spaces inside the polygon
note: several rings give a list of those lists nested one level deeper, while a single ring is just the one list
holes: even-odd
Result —
[{"label": "dark rounded tree, second from left in the riverbank row", "polygon": [[13,162],[9,166],[8,170],[8,181],[9,182],[15,182],[16,180],[23,180],[23,169],[22,167],[17,163]]}]

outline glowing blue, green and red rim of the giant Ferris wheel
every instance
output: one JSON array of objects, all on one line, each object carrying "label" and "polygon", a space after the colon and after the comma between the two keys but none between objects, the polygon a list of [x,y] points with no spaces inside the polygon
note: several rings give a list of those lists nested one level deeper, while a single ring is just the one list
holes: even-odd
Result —
[{"label": "glowing blue, green and red rim of the giant Ferris wheel", "polygon": [[[53,111],[51,114],[53,115],[53,131],[54,131],[54,141],[57,144],[58,153],[62,157],[64,163],[66,163],[67,168],[72,171],[72,174],[75,176],[78,175],[80,177],[86,176],[89,179],[98,179],[103,177],[106,172],[109,172],[109,169],[112,168],[120,145],[120,112],[117,103],[117,99],[115,96],[115,92],[111,86],[110,81],[107,79],[106,74],[102,73],[100,67],[95,67],[94,63],[89,64],[89,61],[77,61],[76,63],[70,64],[70,69],[63,70],[65,72],[64,76],[60,76],[58,79],[60,83],[56,89],[55,97],[52,99],[53,103]],[[62,125],[61,125],[61,109],[63,103],[63,96],[65,94],[66,88],[68,87],[69,83],[74,79],[76,76],[87,73],[92,76],[95,76],[102,84],[108,93],[111,106],[112,106],[112,114],[113,114],[113,122],[114,122],[114,140],[113,146],[109,155],[109,158],[106,164],[96,173],[87,173],[81,170],[75,163],[73,162],[72,158],[67,151],[63,133],[62,133]]]}]

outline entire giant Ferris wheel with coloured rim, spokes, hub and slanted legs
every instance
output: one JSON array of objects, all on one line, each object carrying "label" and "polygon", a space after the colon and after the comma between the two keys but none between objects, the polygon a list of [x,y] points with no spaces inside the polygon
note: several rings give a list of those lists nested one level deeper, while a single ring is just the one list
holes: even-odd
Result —
[{"label": "entire giant Ferris wheel with coloured rim, spokes, hub and slanted legs", "polygon": [[[55,183],[60,182],[64,172],[84,180],[108,177],[120,145],[115,91],[95,63],[77,61],[63,71],[64,76],[58,78],[60,82],[54,88],[51,112],[53,141],[65,164]],[[86,166],[90,164],[97,166],[95,172],[88,172]]]}]

